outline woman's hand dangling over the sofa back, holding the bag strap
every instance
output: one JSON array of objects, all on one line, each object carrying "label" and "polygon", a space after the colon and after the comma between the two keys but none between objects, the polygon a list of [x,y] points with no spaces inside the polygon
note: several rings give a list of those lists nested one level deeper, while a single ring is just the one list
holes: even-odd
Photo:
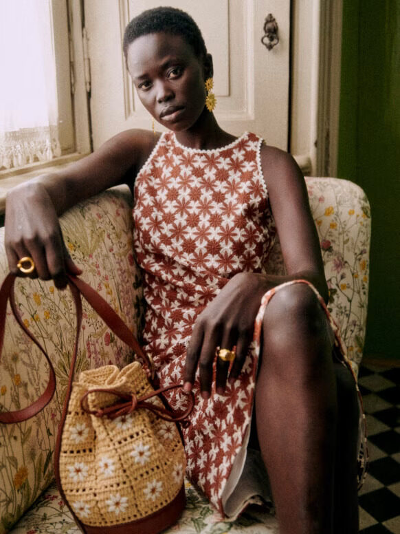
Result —
[{"label": "woman's hand dangling over the sofa back, holding the bag strap", "polygon": [[40,182],[21,184],[8,193],[5,251],[12,273],[21,275],[16,264],[25,256],[32,257],[35,270],[30,276],[53,279],[59,289],[67,285],[67,273],[82,273],[69,256],[54,203]]}]

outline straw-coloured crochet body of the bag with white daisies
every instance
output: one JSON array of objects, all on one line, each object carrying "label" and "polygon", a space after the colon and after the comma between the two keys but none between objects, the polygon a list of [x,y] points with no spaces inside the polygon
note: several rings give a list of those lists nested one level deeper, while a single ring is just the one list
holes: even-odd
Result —
[{"label": "straw-coloured crochet body of the bag with white daisies", "polygon": [[[104,384],[100,391],[99,383]],[[86,412],[80,400],[87,392]],[[157,513],[184,484],[186,458],[175,423],[140,407],[114,419],[92,415],[126,392],[137,398],[152,392],[138,362],[121,371],[106,365],[82,372],[72,388],[60,479],[66,504],[88,526],[107,528]],[[157,396],[151,403],[164,406]]]}]

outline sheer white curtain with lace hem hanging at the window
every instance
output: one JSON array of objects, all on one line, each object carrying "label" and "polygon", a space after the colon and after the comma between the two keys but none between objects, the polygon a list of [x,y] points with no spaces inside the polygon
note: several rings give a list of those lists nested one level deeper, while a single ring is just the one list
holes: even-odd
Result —
[{"label": "sheer white curtain with lace hem hanging at the window", "polygon": [[0,0],[0,171],[60,156],[50,0]]}]

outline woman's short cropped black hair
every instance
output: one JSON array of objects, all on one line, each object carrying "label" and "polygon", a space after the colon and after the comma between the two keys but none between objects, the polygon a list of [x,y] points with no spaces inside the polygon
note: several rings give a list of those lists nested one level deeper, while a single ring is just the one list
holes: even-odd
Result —
[{"label": "woman's short cropped black hair", "polygon": [[165,32],[180,35],[194,50],[198,58],[205,58],[207,48],[199,26],[190,15],[177,8],[159,7],[148,9],[131,20],[124,33],[124,55],[135,39],[142,35]]}]

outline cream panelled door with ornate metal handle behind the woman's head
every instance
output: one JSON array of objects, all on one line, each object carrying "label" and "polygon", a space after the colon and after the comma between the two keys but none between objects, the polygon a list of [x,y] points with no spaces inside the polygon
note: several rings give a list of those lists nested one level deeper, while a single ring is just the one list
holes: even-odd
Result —
[{"label": "cream panelled door with ornate metal handle behind the woman's head", "polygon": [[[290,0],[85,0],[94,149],[124,129],[151,129],[151,116],[124,65],[122,36],[133,17],[159,5],[183,9],[199,25],[214,60],[215,115],[221,127],[235,135],[254,131],[286,150]],[[269,13],[279,36],[271,50],[261,42]]]}]

